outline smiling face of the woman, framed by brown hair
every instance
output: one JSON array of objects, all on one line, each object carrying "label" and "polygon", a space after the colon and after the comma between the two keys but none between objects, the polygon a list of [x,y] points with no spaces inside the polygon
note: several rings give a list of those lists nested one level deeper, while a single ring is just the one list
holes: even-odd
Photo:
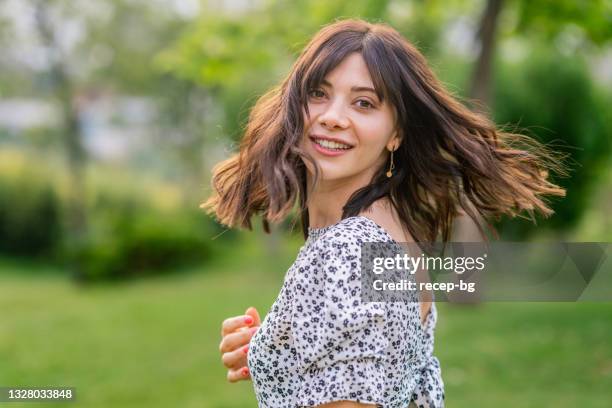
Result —
[{"label": "smiling face of the woman, framed by brown hair", "polygon": [[[369,182],[399,146],[394,109],[376,96],[359,53],[350,54],[320,87],[309,90],[308,109],[301,147],[321,168],[321,181]],[[314,174],[310,163],[306,167]]]}]

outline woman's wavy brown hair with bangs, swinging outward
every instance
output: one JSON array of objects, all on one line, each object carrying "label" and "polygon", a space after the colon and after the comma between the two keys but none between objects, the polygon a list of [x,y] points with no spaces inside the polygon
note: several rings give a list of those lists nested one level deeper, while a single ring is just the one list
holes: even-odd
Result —
[{"label": "woman's wavy brown hair with bangs, swinging outward", "polygon": [[[201,208],[229,227],[252,229],[251,218],[283,220],[299,203],[308,233],[308,191],[303,111],[308,91],[351,53],[360,53],[382,101],[395,109],[401,144],[395,173],[378,169],[371,183],[353,193],[342,218],[387,197],[416,242],[447,242],[453,221],[467,214],[483,235],[479,217],[498,220],[523,211],[553,214],[543,196],[564,196],[548,180],[565,175],[560,156],[528,136],[504,132],[483,114],[460,103],[441,85],[423,55],[395,29],[348,19],[323,27],[306,45],[282,83],[250,112],[238,153],[213,168],[213,194]],[[316,165],[313,185],[319,178]],[[489,228],[494,229],[489,225]]]}]

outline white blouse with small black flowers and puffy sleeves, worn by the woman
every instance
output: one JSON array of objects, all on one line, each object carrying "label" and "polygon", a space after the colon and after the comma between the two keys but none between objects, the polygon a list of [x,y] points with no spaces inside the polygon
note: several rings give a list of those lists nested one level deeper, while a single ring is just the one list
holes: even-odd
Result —
[{"label": "white blouse with small black flowers and puffy sleeves, worn by the woman", "polygon": [[437,311],[362,302],[360,244],[394,242],[364,216],[308,230],[247,356],[260,407],[350,400],[384,408],[444,406],[433,355]]}]

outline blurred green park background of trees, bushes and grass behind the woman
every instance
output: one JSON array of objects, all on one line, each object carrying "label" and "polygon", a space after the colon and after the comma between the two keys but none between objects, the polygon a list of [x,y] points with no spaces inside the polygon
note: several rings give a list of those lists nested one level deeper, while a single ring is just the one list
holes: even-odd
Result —
[{"label": "blurred green park background of trees, bushes and grass behind the woman", "polygon": [[[612,241],[609,0],[3,0],[0,386],[256,406],[225,381],[220,325],[264,317],[301,232],[198,205],[257,97],[342,17],[391,24],[458,98],[568,155],[556,214],[502,239]],[[610,303],[440,304],[447,404],[612,406],[611,323]]]}]

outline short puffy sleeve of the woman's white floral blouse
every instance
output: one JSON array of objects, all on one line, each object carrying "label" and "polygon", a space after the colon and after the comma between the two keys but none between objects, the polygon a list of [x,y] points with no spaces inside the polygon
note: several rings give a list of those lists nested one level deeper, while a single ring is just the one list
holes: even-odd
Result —
[{"label": "short puffy sleeve of the woman's white floral blouse", "polygon": [[292,332],[300,369],[300,407],[349,400],[381,405],[386,306],[361,301],[361,254],[321,237],[296,278]]}]

